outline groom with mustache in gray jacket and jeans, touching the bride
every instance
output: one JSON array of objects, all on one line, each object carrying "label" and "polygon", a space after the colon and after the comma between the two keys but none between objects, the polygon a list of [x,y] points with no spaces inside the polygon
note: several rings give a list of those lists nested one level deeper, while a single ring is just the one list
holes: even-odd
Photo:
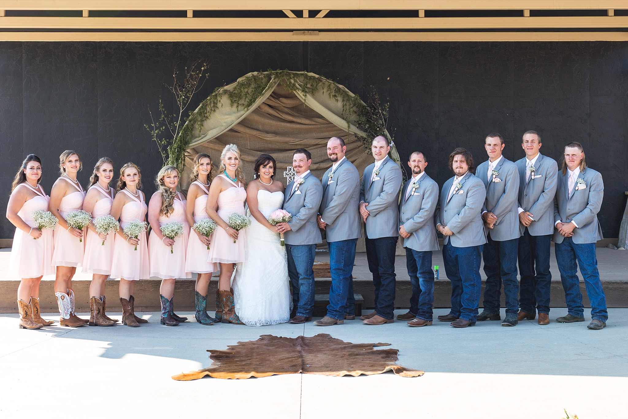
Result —
[{"label": "groom with mustache in gray jacket and jeans, touching the bride", "polygon": [[295,150],[292,166],[297,177],[288,183],[283,209],[290,212],[292,220],[277,224],[277,231],[284,233],[288,253],[288,276],[292,283],[292,302],[296,315],[291,323],[311,320],[314,310],[314,256],[316,245],[323,239],[316,216],[323,198],[323,186],[310,173],[312,158],[304,148]]}]

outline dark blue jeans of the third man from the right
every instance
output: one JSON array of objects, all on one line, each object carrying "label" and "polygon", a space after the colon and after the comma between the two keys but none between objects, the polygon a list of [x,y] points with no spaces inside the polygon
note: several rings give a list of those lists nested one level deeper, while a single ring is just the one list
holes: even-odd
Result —
[{"label": "dark blue jeans of the third man from the right", "polygon": [[506,314],[517,314],[519,311],[519,281],[517,281],[517,249],[519,239],[494,241],[489,236],[484,245],[484,310],[499,313],[499,295],[504,282],[506,296]]}]

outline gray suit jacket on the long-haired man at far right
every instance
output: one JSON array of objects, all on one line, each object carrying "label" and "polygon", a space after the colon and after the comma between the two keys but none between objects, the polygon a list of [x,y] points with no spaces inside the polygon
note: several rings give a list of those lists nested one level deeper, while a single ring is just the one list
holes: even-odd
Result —
[{"label": "gray suit jacket on the long-haired man at far right", "polygon": [[[562,222],[573,220],[578,226],[573,229],[573,236],[571,236],[573,242],[595,243],[603,238],[597,213],[600,212],[602,199],[604,199],[604,182],[600,172],[588,167],[578,174],[578,179],[584,180],[585,188],[576,190],[578,187],[578,182],[576,182],[573,189],[567,191],[569,172],[566,175],[563,173],[558,175],[558,188],[554,200],[554,223],[556,224],[559,220]],[[564,238],[556,229],[552,241],[562,243]]]}]

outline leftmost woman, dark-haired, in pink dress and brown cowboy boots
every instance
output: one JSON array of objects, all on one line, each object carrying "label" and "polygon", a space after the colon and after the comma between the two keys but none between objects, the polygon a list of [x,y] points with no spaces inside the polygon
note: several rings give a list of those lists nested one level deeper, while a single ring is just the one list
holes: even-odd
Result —
[{"label": "leftmost woman, dark-haired, in pink dress and brown cowboy boots", "polygon": [[26,157],[11,185],[6,217],[15,226],[8,278],[21,278],[18,287],[19,327],[41,329],[54,322],[41,318],[39,286],[41,276],[52,275],[52,230],[40,230],[33,220],[33,211],[48,210],[50,199],[39,185],[41,160]]}]

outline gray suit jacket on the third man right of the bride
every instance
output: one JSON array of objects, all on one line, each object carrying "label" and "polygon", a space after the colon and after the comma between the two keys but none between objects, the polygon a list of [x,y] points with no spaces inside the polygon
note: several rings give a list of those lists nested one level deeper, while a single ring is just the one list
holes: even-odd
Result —
[{"label": "gray suit jacket on the third man right of the bride", "polygon": [[366,235],[369,239],[398,237],[399,230],[399,188],[403,181],[401,168],[390,157],[379,166],[379,175],[371,182],[375,163],[364,169],[360,202],[369,204],[366,209],[371,214],[366,219]]}]

